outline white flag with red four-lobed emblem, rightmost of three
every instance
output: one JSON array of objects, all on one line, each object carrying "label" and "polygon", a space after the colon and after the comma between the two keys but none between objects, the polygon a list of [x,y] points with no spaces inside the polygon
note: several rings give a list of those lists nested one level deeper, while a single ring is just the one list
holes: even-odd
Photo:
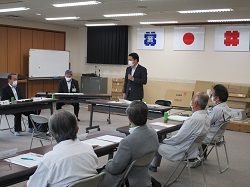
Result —
[{"label": "white flag with red four-lobed emblem, rightmost of three", "polygon": [[249,51],[249,32],[247,26],[215,27],[215,51]]}]

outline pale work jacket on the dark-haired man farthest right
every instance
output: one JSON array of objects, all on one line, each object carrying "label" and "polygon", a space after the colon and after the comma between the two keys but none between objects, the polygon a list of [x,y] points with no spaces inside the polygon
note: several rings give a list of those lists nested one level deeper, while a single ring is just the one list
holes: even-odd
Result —
[{"label": "pale work jacket on the dark-haired man farthest right", "polygon": [[[213,106],[208,111],[208,117],[210,118],[211,125],[210,129],[206,135],[205,143],[209,143],[211,139],[213,138],[214,134],[216,133],[217,129],[220,127],[220,125],[228,121],[231,118],[231,110],[227,106],[227,103],[222,102],[215,106]],[[215,141],[219,141],[224,134],[225,130],[219,130],[218,134],[214,138]]]}]

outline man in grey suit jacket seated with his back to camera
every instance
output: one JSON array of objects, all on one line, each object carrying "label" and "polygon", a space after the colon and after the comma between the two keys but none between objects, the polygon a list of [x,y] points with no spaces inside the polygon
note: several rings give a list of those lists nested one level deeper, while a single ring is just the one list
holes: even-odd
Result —
[{"label": "man in grey suit jacket seated with his back to camera", "polygon": [[[119,144],[113,159],[109,160],[104,171],[106,176],[102,187],[116,187],[121,182],[129,164],[158,149],[158,136],[154,129],[146,125],[148,107],[140,101],[133,101],[127,108],[129,121],[135,126],[130,135],[125,137]],[[151,186],[148,166],[134,166],[128,175],[130,187]]]}]

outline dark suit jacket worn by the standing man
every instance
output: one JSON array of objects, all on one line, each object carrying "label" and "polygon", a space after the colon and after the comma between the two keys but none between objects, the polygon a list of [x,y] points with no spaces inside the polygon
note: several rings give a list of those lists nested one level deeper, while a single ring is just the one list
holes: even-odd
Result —
[{"label": "dark suit jacket worn by the standing man", "polygon": [[128,100],[142,100],[144,96],[143,84],[147,84],[147,69],[138,64],[133,75],[134,81],[128,79],[128,74],[131,72],[132,67],[127,67],[123,93],[126,94]]}]

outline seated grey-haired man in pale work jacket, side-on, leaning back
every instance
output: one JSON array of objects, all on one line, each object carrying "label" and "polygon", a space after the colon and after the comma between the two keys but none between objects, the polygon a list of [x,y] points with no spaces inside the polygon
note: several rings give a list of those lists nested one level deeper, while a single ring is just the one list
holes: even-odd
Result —
[{"label": "seated grey-haired man in pale work jacket, side-on, leaning back", "polygon": [[[203,92],[198,92],[193,96],[190,102],[190,107],[193,110],[192,116],[183,123],[176,135],[163,140],[163,144],[160,145],[158,153],[150,165],[150,170],[153,172],[157,171],[162,156],[168,160],[181,160],[194,138],[197,135],[206,134],[208,132],[210,120],[205,111],[208,99],[208,95]],[[189,153],[189,159],[197,158],[198,153],[198,147],[192,149]]]}]

